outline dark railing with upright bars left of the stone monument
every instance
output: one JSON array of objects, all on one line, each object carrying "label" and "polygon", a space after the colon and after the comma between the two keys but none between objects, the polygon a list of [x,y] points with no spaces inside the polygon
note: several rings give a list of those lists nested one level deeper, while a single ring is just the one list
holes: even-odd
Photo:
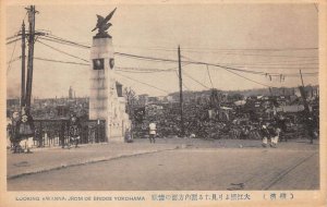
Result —
[{"label": "dark railing with upright bars left of the stone monument", "polygon": [[[69,143],[69,120],[34,120],[34,147],[63,146]],[[106,121],[81,121],[80,144],[104,143],[106,141]]]}]

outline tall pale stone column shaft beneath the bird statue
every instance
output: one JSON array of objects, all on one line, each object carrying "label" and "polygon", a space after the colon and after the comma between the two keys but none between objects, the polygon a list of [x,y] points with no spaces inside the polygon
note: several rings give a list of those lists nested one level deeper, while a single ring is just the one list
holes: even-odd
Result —
[{"label": "tall pale stone column shaft beneath the bird statue", "polygon": [[106,120],[106,139],[109,141],[113,77],[113,47],[111,37],[94,37],[90,49],[89,119]]}]

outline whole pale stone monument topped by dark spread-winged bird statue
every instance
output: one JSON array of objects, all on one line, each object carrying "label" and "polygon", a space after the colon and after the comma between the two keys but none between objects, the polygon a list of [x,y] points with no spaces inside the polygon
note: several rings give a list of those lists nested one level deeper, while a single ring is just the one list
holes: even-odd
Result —
[{"label": "whole pale stone monument topped by dark spread-winged bird statue", "polygon": [[93,37],[90,48],[89,119],[99,120],[98,123],[106,121],[108,142],[123,142],[131,122],[125,113],[124,97],[117,92],[112,37],[107,32],[114,11],[106,17],[97,15],[97,25],[93,29],[98,33]]}]

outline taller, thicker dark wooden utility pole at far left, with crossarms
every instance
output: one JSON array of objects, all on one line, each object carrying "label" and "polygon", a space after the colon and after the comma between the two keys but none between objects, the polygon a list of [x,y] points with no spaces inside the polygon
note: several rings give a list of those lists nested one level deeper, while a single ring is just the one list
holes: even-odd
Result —
[{"label": "taller, thicker dark wooden utility pole at far left, with crossarms", "polygon": [[33,85],[33,56],[34,56],[34,37],[35,37],[35,5],[26,8],[28,12],[29,34],[28,34],[28,59],[27,59],[27,83],[26,83],[26,107],[31,107],[32,85]]}]

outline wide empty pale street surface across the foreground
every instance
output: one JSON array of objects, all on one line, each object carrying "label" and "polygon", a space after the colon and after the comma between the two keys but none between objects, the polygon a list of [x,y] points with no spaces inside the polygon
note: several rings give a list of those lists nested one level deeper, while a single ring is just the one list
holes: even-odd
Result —
[{"label": "wide empty pale street surface across the foreground", "polygon": [[[137,139],[113,147],[108,144],[32,155],[8,154],[8,190],[318,190],[318,147],[317,143],[310,145],[304,139],[263,148],[259,141],[167,138],[155,145]],[[113,155],[114,149],[120,151],[119,156]],[[106,158],[107,154],[112,155]],[[56,157],[71,161],[64,168],[56,168]],[[81,162],[92,157],[99,159]],[[29,165],[33,172],[34,165],[50,162],[53,168],[26,174],[20,171],[24,165]]]}]

